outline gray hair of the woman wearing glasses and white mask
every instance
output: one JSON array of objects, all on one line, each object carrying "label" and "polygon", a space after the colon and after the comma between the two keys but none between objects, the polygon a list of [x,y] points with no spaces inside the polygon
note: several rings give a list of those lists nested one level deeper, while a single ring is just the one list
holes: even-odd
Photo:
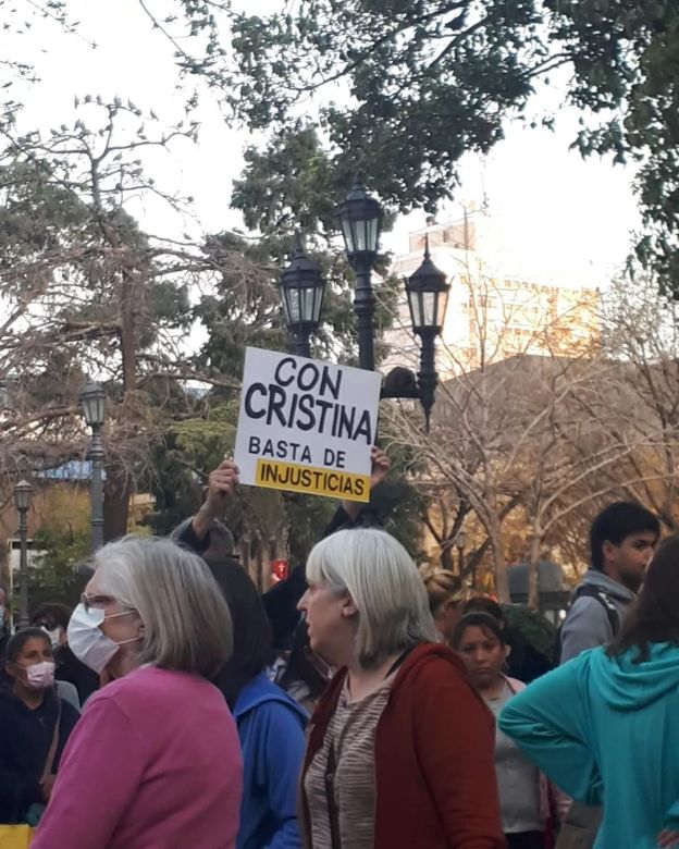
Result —
[{"label": "gray hair of the woman wearing glasses and white mask", "polygon": [[231,657],[231,613],[210,569],[171,540],[125,537],[94,559],[98,591],[144,623],[139,665],[212,678]]}]

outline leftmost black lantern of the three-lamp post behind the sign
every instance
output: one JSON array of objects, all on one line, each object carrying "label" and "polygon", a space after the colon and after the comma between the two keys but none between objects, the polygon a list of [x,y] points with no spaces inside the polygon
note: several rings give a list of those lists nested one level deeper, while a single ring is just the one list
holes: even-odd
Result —
[{"label": "leftmost black lantern of the three-lamp post behind the sign", "polygon": [[296,352],[310,356],[309,337],[321,321],[325,281],[317,262],[304,251],[300,239],[289,266],[281,274],[279,283],[285,322],[295,336]]}]

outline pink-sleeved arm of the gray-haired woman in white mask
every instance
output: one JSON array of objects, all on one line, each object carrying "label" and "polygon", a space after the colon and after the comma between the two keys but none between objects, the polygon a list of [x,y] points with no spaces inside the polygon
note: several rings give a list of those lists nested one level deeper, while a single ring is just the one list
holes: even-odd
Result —
[{"label": "pink-sleeved arm of the gray-haired woman in white mask", "polygon": [[88,705],[62,760],[32,849],[101,849],[135,798],[146,745],[110,699]]}]

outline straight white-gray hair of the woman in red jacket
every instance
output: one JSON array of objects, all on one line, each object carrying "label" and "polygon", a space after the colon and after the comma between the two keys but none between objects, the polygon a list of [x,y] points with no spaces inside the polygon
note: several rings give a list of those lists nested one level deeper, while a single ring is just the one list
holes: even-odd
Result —
[{"label": "straight white-gray hair of the woman in red jacket", "polygon": [[365,668],[437,639],[417,567],[398,540],[383,530],[342,530],[322,540],[309,555],[307,580],[354,600],[355,652]]}]

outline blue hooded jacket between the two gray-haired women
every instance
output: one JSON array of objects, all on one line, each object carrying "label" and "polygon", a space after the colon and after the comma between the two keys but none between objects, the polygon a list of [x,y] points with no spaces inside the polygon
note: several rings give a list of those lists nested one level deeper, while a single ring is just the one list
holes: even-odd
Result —
[{"label": "blue hooded jacket between the two gray-haired women", "polygon": [[306,711],[261,673],[234,707],[243,751],[237,849],[299,849],[297,783]]}]

